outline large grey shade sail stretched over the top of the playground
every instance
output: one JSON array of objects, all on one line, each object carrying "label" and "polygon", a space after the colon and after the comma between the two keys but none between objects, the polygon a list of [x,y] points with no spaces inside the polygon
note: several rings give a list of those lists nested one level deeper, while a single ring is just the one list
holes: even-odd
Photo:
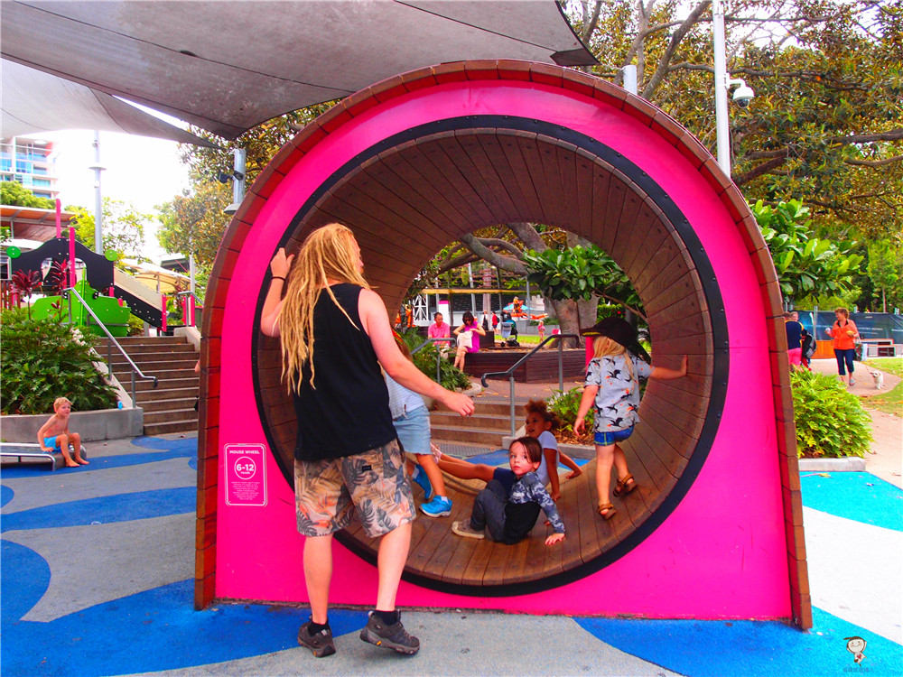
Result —
[{"label": "large grey shade sail stretched over the top of the playground", "polygon": [[553,0],[5,2],[0,44],[7,60],[226,138],[435,63],[595,62]]}]

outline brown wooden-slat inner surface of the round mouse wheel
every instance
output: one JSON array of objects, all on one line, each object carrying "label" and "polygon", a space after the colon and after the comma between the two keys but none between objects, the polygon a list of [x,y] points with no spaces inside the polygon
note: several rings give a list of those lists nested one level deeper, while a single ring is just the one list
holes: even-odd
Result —
[{"label": "brown wooden-slat inner surface of the round mouse wheel", "polygon": [[[487,587],[503,592],[525,581],[560,582],[550,579],[599,567],[626,552],[635,541],[630,535],[675,492],[694,454],[698,466],[707,451],[700,437],[712,403],[712,311],[720,296],[714,285],[706,289],[704,252],[665,191],[626,158],[560,127],[471,116],[415,126],[331,177],[319,198],[299,212],[285,246],[300,246],[312,228],[332,221],[354,231],[368,281],[389,308],[442,246],[480,227],[514,221],[562,227],[618,262],[647,310],[656,364],[677,366],[687,353],[693,375],[647,386],[642,422],[624,445],[640,490],[619,508],[619,518],[603,523],[594,516],[593,461],[581,478],[563,485],[563,518],[573,538],[538,557],[527,551],[539,543],[542,552],[542,539],[515,548],[461,542],[448,535],[445,520],[418,520],[408,572],[427,584],[479,586],[486,594]],[[277,343],[260,340],[256,360],[260,412],[290,479],[296,423],[279,382]],[[453,493],[456,515],[469,515],[472,490],[458,487]],[[342,540],[374,557],[374,543],[358,530]],[[501,551],[500,560],[489,554],[494,549]]]}]

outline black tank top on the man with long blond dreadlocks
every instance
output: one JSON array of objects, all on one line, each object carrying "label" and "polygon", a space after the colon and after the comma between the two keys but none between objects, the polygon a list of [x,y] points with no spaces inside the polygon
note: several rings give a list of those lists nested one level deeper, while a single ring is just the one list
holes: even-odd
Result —
[{"label": "black tank top on the man with long blond dreadlocks", "polygon": [[321,292],[313,309],[314,387],[308,361],[301,393],[293,396],[298,417],[294,458],[299,460],[338,459],[396,439],[386,382],[358,316],[361,288],[341,283],[331,289],[355,326],[329,292]]}]

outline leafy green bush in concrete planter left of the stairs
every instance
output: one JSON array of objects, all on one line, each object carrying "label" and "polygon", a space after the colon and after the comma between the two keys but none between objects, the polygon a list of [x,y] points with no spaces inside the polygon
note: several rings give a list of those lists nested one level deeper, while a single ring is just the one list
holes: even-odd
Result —
[{"label": "leafy green bush in concrete planter left of the stairs", "polygon": [[3,413],[51,413],[65,396],[73,411],[111,409],[116,390],[92,364],[79,329],[53,320],[30,320],[19,309],[5,311],[0,342]]}]

